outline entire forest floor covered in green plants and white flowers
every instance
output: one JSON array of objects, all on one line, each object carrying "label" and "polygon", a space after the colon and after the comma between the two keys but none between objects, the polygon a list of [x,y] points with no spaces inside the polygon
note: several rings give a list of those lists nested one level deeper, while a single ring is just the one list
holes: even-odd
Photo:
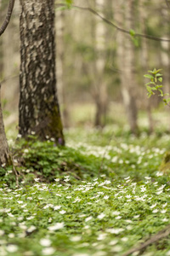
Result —
[{"label": "entire forest floor covered in green plants and white flowers", "polygon": [[1,256],[170,255],[170,135],[113,128],[65,131],[65,148],[9,140],[19,174],[1,170]]}]

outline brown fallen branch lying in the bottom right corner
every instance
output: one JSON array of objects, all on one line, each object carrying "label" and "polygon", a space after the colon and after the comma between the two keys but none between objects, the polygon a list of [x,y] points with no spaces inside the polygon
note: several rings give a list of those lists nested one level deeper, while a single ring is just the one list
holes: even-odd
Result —
[{"label": "brown fallen branch lying in the bottom right corner", "polygon": [[156,241],[159,241],[162,238],[165,238],[166,236],[169,236],[169,234],[170,234],[170,225],[165,227],[163,230],[159,231],[155,236],[152,236],[150,239],[144,241],[144,243],[141,243],[138,247],[132,247],[127,251],[127,253],[123,253],[122,256],[128,256],[134,252],[140,252],[144,248],[150,246],[150,244]]}]

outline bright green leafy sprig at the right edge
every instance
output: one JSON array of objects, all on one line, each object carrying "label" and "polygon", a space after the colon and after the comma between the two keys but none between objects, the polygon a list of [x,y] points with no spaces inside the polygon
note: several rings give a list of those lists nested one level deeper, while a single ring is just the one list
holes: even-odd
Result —
[{"label": "bright green leafy sprig at the right edge", "polygon": [[162,88],[163,85],[162,82],[162,74],[160,73],[161,69],[154,68],[152,71],[149,70],[148,73],[150,74],[144,74],[144,78],[150,79],[150,82],[147,84],[144,84],[146,86],[146,90],[148,91],[147,95],[150,98],[150,96],[157,95],[161,96],[162,101],[170,107],[170,97],[165,98],[166,96],[169,96],[169,93],[163,93]]}]

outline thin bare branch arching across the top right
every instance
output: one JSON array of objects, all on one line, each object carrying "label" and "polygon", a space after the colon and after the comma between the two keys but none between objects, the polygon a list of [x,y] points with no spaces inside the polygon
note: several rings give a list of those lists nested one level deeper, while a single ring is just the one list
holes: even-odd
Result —
[{"label": "thin bare branch arching across the top right", "polygon": [[[167,0],[166,0],[167,2]],[[57,3],[56,4],[57,7],[66,7],[65,3]],[[120,32],[124,32],[127,33],[128,35],[130,34],[128,30],[123,29],[122,27],[117,26],[116,24],[114,24],[113,22],[111,22],[111,20],[107,20],[105,17],[103,17],[102,15],[99,15],[98,12],[96,12],[94,9],[91,9],[89,7],[81,7],[81,6],[77,6],[77,5],[72,5],[73,8],[77,8],[77,9],[82,9],[85,11],[89,11],[90,13],[98,16],[101,20],[105,21],[105,23],[109,24],[110,26],[115,27],[118,31]],[[129,28],[130,29],[130,28]],[[157,38],[154,36],[150,36],[147,34],[140,34],[140,33],[135,33],[134,37],[138,37],[138,38],[148,38],[151,40],[156,40],[156,41],[164,41],[164,42],[170,42],[170,39],[166,39],[166,38]]]}]

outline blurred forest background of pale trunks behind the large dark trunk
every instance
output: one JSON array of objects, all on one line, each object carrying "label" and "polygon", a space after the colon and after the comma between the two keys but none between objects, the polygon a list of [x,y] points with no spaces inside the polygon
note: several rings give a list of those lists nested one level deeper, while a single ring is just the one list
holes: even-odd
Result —
[{"label": "blurred forest background of pale trunks behind the large dark trunk", "polygon": [[[170,92],[166,1],[74,0],[71,9],[59,3],[55,5],[56,73],[65,128],[115,125],[136,133],[139,128],[152,132],[164,126],[169,131],[169,108],[156,96],[148,99],[144,87],[144,74],[162,68],[164,91]],[[8,1],[1,0],[1,22],[7,8]],[[19,23],[20,1],[16,1],[8,29],[0,38],[4,121],[14,127],[20,96]]]}]

